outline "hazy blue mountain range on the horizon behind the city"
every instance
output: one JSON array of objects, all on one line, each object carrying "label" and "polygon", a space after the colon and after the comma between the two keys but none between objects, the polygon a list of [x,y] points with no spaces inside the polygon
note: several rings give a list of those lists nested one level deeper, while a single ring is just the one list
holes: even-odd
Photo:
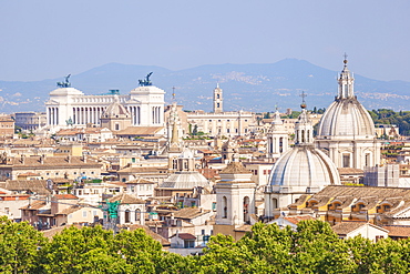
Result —
[{"label": "hazy blue mountain range on the horizon behind the city", "polygon": [[[342,64],[340,64],[340,70]],[[173,87],[178,104],[185,110],[212,110],[212,94],[219,83],[224,90],[224,110],[283,112],[299,109],[301,91],[308,94],[308,109],[327,108],[337,94],[337,71],[304,60],[285,59],[267,64],[207,64],[172,71],[153,65],[109,63],[70,78],[73,88],[85,94],[103,94],[109,90],[129,93],[139,79],[154,72],[154,85],[166,91],[172,101]],[[0,81],[0,112],[44,111],[44,101],[60,79],[42,81]],[[378,81],[355,73],[355,93],[367,109],[409,110],[410,82]]]}]

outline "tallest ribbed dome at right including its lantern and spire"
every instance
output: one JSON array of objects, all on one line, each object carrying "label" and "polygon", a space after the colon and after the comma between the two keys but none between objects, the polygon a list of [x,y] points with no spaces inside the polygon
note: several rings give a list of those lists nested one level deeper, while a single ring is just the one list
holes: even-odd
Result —
[{"label": "tallest ribbed dome at right including its lantern and spire", "polygon": [[340,73],[339,92],[320,120],[317,139],[375,138],[375,123],[353,93],[353,81],[347,60]]}]

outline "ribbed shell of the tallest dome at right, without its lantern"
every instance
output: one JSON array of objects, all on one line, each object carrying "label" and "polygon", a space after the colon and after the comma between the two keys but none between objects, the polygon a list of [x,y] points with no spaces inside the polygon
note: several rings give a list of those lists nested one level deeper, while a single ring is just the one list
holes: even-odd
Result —
[{"label": "ribbed shell of the tallest dome at right, without its lantern", "polygon": [[356,98],[336,99],[320,120],[318,139],[373,139],[375,123]]}]

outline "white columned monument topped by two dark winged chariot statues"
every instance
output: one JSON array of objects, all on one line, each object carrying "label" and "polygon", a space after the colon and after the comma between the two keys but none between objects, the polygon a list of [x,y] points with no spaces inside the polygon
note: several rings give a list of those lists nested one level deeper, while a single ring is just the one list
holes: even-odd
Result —
[{"label": "white columned monument topped by two dark winged chariot statues", "polygon": [[130,112],[133,126],[164,126],[165,92],[151,85],[151,82],[140,82],[140,87],[125,95],[120,95],[117,90],[109,94],[85,95],[68,82],[59,84],[60,88],[51,91],[45,102],[49,128],[65,126],[68,122],[74,126],[100,124],[101,115],[116,97]]}]

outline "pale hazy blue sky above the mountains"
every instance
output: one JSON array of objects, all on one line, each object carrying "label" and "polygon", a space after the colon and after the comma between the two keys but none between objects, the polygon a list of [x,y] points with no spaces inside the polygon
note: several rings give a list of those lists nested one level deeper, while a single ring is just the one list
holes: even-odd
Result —
[{"label": "pale hazy blue sky above the mountains", "polygon": [[0,80],[304,59],[410,81],[409,0],[2,0]]}]

